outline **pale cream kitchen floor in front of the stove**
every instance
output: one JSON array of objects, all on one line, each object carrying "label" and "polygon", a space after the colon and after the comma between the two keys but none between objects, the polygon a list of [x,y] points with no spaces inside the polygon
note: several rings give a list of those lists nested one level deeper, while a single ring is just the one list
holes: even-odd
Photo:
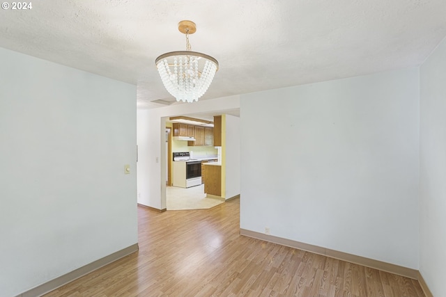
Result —
[{"label": "pale cream kitchen floor in front of the stove", "polygon": [[167,210],[210,209],[223,202],[223,200],[217,198],[206,198],[204,184],[190,188],[166,187]]}]

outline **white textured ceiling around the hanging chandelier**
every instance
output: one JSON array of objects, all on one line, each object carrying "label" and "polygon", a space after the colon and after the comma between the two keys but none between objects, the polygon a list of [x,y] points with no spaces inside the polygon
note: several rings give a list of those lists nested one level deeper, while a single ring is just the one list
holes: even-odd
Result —
[{"label": "white textured ceiling around the hanging chandelier", "polygon": [[[137,85],[171,100],[155,58],[192,50],[220,70],[203,99],[420,65],[446,35],[445,0],[46,0],[0,11],[0,47]],[[0,57],[1,59],[1,57]]]}]

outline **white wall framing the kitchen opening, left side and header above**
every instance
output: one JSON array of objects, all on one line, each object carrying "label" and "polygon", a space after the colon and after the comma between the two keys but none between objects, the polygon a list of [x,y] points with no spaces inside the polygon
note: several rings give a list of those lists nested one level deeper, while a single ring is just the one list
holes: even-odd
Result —
[{"label": "white wall framing the kitchen opening, left side and header above", "polygon": [[[166,156],[164,147],[162,147],[164,143],[161,143],[161,136],[164,136],[165,117],[212,111],[221,114],[239,107],[240,96],[231,96],[157,109],[138,109],[138,203],[156,209],[166,208]],[[158,163],[156,162],[157,158]]]}]

